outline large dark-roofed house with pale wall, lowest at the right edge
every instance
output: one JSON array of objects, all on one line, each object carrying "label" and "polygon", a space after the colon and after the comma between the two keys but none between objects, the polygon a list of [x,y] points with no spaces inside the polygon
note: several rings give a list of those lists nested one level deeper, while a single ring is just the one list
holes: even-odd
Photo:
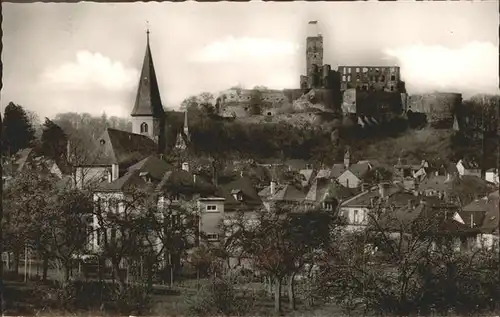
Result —
[{"label": "large dark-roofed house with pale wall, lowest at the right edge", "polygon": [[468,227],[477,228],[479,234],[475,246],[491,248],[498,243],[499,217],[498,190],[472,201],[460,211],[461,222]]}]

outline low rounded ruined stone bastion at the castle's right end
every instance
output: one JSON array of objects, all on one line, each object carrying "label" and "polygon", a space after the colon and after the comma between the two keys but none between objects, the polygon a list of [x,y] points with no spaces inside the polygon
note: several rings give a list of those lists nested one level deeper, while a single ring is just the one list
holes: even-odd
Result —
[{"label": "low rounded ruined stone bastion at the castle's right end", "polygon": [[411,95],[407,98],[407,111],[424,113],[432,125],[453,126],[454,115],[462,104],[462,94],[436,92]]}]

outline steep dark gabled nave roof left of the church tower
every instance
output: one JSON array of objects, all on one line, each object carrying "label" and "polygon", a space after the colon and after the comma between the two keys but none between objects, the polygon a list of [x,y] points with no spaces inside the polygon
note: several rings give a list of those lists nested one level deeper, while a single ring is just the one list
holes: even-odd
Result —
[{"label": "steep dark gabled nave roof left of the church tower", "polygon": [[130,165],[157,153],[158,145],[141,134],[107,128],[98,140],[95,164]]}]

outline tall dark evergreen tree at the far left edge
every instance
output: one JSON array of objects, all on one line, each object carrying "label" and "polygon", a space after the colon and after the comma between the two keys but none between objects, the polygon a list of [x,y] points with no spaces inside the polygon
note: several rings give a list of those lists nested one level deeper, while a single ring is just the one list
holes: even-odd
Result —
[{"label": "tall dark evergreen tree at the far left edge", "polygon": [[9,155],[31,146],[35,130],[22,106],[10,102],[4,111],[4,144]]}]

